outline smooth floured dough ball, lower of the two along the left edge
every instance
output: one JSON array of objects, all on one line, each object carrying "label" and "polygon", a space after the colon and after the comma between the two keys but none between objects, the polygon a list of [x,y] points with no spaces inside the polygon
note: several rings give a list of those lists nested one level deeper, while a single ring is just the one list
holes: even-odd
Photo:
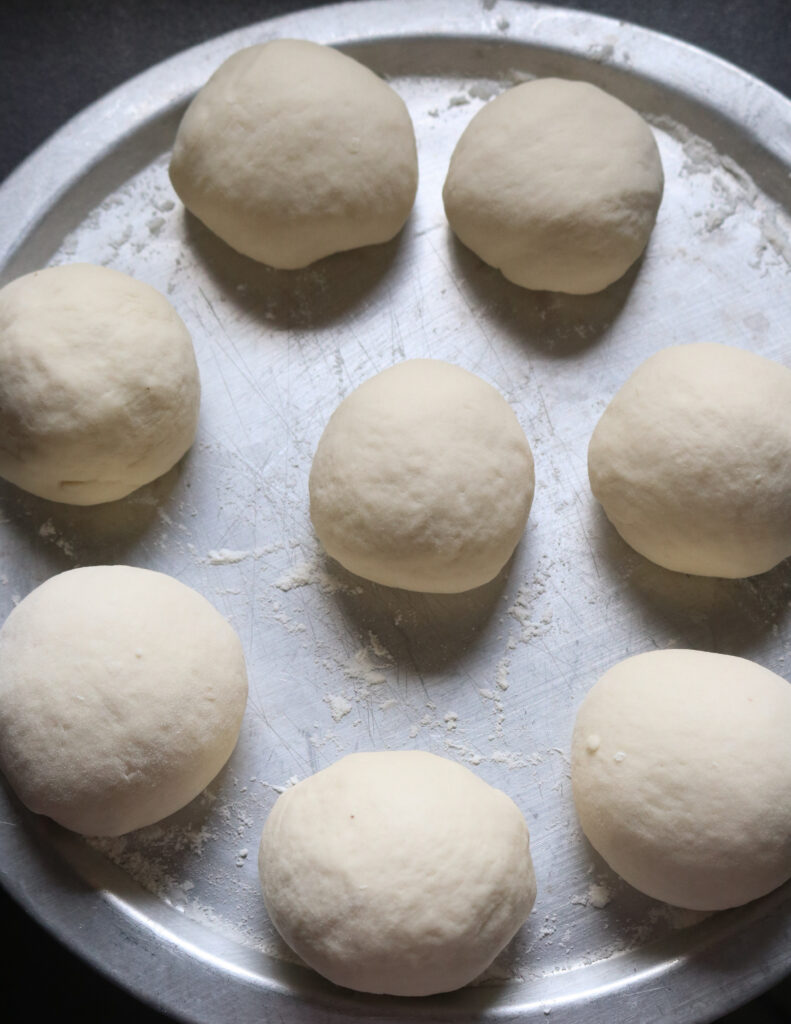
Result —
[{"label": "smooth floured dough ball, lower of the two along the left edge", "polygon": [[0,767],[74,831],[120,836],[188,804],[231,756],[246,699],[234,630],[161,572],[72,569],[0,630]]}]

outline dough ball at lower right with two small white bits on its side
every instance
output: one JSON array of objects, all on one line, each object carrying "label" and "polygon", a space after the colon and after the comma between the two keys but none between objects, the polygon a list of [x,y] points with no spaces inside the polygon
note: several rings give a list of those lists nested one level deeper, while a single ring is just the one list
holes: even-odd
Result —
[{"label": "dough ball at lower right with two small white bits on its side", "polygon": [[791,686],[752,662],[660,650],[607,672],[577,715],[572,783],[591,845],[694,910],[791,877]]}]

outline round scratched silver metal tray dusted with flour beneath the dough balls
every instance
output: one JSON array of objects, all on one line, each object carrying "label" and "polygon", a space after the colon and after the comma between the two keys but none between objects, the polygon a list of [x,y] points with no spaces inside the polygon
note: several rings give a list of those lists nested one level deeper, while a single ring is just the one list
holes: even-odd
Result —
[{"label": "round scratched silver metal tray dusted with flour beneath the dough balls", "polygon": [[[168,150],[192,93],[241,46],[339,45],[406,99],[421,181],[392,243],[279,273],[184,215]],[[490,96],[531,76],[588,79],[654,125],[667,175],[640,263],[589,297],[507,284],[451,237],[451,150]],[[251,695],[238,749],[165,822],[88,841],[0,790],[0,879],[97,968],[195,1024],[425,1018],[711,1020],[791,965],[791,889],[703,918],[641,897],[580,835],[567,752],[583,694],[628,654],[739,653],[783,673],[789,565],[740,582],[666,572],[620,542],[588,488],[587,440],[649,353],[712,339],[783,359],[791,322],[791,104],[690,46],[526,3],[365,2],[232,33],[130,81],[0,189],[3,281],[89,260],[169,296],[204,384],[182,465],[92,509],[0,486],[0,615],[77,564],[128,562],[196,587],[239,630]],[[306,480],[338,400],[408,356],[448,358],[513,403],[536,457],[524,542],[491,585],[408,595],[327,562]],[[473,767],[531,824],[539,896],[477,984],[430,999],[325,983],[262,907],[259,829],[279,791],[356,750],[413,746]]]}]

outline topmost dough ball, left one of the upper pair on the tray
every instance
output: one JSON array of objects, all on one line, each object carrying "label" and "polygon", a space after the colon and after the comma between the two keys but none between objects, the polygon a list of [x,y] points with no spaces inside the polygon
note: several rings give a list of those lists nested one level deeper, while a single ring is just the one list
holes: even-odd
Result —
[{"label": "topmost dough ball, left one of the upper pair on the tray", "polygon": [[415,133],[368,68],[280,39],[235,53],[201,89],[170,179],[223,242],[294,269],[401,230],[417,188]]}]

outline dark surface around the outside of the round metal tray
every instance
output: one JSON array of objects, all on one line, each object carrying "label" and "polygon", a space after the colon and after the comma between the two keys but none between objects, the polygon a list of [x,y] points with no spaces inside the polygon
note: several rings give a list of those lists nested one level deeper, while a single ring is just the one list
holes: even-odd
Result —
[{"label": "dark surface around the outside of the round metal tray", "polygon": [[[307,6],[320,4],[0,0],[0,180],[69,118],[131,76],[223,32]],[[791,96],[791,0],[556,0],[555,6],[596,11],[676,36]],[[0,974],[0,1016],[8,1024],[54,1020],[72,1013],[86,1024],[171,1020],[84,966],[1,890],[0,921],[7,943]],[[791,982],[724,1021],[789,1024]]]}]

